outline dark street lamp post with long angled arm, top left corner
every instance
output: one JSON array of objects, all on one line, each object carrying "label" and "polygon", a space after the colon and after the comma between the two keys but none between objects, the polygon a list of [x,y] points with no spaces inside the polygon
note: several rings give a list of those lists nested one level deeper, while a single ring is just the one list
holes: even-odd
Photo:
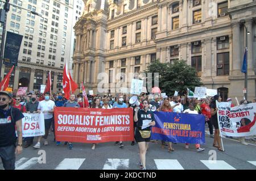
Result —
[{"label": "dark street lamp post with long angled arm, top left corner", "polygon": [[[1,2],[3,2],[3,1],[1,1]],[[3,9],[1,9],[1,14],[0,14],[0,16],[1,16],[0,17],[0,22],[2,23],[2,26],[3,26],[2,41],[1,41],[1,52],[0,52],[0,82],[2,81],[1,73],[2,73],[2,62],[3,62],[3,49],[4,49],[4,45],[5,45],[6,19],[7,19],[7,12],[9,12],[9,10],[10,10],[10,5],[14,6],[14,7],[18,7],[20,9],[23,9],[23,10],[26,10],[26,11],[29,11],[34,15],[42,16],[42,15],[38,14],[35,11],[30,11],[30,10],[24,9],[23,7],[13,5],[9,2],[10,2],[10,0],[5,1],[5,5],[4,5]]]}]

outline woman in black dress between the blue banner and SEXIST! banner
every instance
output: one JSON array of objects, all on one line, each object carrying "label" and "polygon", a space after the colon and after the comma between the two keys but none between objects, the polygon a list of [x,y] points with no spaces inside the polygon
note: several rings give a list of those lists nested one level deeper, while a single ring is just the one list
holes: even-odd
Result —
[{"label": "woman in black dress between the blue banner and SEXIST! banner", "polygon": [[218,148],[218,150],[220,150],[220,151],[224,151],[221,147],[220,129],[218,128],[218,118],[217,118],[218,108],[216,107],[216,100],[218,102],[221,102],[221,96],[214,95],[213,100],[210,103],[210,114],[212,115],[212,117],[210,119],[212,120],[214,129],[215,129],[214,130],[213,146]]}]

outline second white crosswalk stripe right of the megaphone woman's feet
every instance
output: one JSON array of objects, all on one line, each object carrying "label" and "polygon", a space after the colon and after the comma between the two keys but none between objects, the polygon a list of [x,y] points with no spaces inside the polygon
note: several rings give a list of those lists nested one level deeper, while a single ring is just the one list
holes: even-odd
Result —
[{"label": "second white crosswalk stripe right of the megaphone woman's feet", "polygon": [[229,165],[227,162],[222,160],[200,160],[210,170],[236,170],[234,167]]}]

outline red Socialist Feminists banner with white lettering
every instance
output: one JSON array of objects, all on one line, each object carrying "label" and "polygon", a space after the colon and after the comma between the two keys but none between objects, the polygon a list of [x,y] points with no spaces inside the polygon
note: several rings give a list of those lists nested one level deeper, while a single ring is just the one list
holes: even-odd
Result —
[{"label": "red Socialist Feminists banner with white lettering", "polygon": [[55,139],[69,142],[133,141],[133,110],[55,107]]}]

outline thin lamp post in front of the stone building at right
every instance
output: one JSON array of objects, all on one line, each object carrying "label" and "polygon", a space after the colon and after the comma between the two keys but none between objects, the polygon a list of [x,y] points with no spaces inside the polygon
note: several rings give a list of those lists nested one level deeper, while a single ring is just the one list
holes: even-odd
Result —
[{"label": "thin lamp post in front of the stone building at right", "polygon": [[247,91],[247,83],[248,83],[248,60],[247,60],[247,57],[248,57],[248,35],[250,35],[250,32],[247,30],[247,27],[245,26],[245,20],[242,19],[240,20],[240,23],[242,24],[242,26],[245,28],[245,60],[246,60],[246,73],[245,73],[245,93],[244,93],[244,96],[245,96],[245,100],[247,100],[247,95],[248,95],[248,91]]}]

